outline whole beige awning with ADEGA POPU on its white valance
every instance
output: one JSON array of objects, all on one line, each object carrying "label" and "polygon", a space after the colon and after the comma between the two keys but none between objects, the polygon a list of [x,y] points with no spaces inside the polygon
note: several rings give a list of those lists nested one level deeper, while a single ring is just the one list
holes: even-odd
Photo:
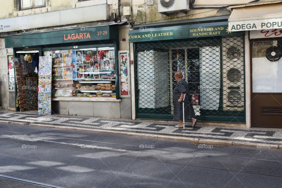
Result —
[{"label": "whole beige awning with ADEGA POPU on its white valance", "polygon": [[282,0],[230,7],[229,31],[282,28]]}]

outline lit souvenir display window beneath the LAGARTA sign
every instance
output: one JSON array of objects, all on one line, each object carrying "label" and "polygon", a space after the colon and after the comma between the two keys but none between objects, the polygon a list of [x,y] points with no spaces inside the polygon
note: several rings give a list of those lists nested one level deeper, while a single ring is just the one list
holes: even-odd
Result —
[{"label": "lit souvenir display window beneath the LAGARTA sign", "polygon": [[114,48],[44,51],[52,56],[52,97],[116,98]]}]

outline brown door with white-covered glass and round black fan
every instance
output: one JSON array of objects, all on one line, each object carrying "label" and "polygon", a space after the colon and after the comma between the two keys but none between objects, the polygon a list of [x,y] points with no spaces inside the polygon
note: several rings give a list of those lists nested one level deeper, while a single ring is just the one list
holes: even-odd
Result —
[{"label": "brown door with white-covered glass and round black fan", "polygon": [[282,41],[252,43],[251,126],[282,128]]}]

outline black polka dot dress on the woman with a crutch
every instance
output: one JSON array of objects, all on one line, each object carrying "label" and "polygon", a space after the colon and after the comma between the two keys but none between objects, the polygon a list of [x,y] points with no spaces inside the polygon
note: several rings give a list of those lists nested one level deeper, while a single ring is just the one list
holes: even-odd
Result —
[{"label": "black polka dot dress on the woman with a crutch", "polygon": [[184,100],[184,117],[189,120],[195,117],[194,109],[189,95],[189,86],[185,80],[179,80],[173,90],[173,119],[183,120],[182,103],[178,103],[178,99],[182,93],[186,93]]}]

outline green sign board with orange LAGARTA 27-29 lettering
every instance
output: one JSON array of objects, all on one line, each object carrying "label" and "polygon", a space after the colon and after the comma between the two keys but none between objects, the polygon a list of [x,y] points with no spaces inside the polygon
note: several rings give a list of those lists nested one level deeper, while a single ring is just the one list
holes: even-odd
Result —
[{"label": "green sign board with orange LAGARTA 27-29 lettering", "polygon": [[13,35],[5,37],[6,48],[42,46],[83,41],[116,40],[116,28],[110,26],[83,27],[61,31]]}]

